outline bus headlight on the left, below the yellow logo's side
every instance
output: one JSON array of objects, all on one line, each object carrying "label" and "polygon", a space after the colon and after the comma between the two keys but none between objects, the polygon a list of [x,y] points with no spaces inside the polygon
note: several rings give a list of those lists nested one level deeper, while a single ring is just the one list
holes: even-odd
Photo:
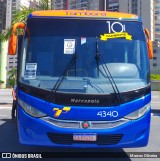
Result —
[{"label": "bus headlight on the left, below the yellow logo's side", "polygon": [[33,106],[28,105],[27,103],[23,102],[20,99],[18,99],[18,103],[27,114],[29,114],[29,115],[31,115],[33,117],[44,117],[44,116],[46,116],[45,113],[37,110]]}]

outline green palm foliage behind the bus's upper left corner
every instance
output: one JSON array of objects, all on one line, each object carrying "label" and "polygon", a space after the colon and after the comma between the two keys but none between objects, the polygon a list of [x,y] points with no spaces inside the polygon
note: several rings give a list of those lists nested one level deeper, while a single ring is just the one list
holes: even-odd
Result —
[{"label": "green palm foliage behind the bus's upper left corner", "polygon": [[[50,10],[50,9],[51,9],[51,0],[40,0],[39,9],[37,10]],[[17,22],[26,23],[26,20],[29,14],[31,14],[35,10],[36,9],[34,8],[28,8],[28,7],[21,6],[20,10],[17,10],[15,12],[10,28],[8,28],[7,30],[5,30],[3,33],[0,34],[0,41],[8,40],[12,33],[12,26]],[[19,29],[17,31],[17,34],[21,34],[22,32],[23,31]]]}]

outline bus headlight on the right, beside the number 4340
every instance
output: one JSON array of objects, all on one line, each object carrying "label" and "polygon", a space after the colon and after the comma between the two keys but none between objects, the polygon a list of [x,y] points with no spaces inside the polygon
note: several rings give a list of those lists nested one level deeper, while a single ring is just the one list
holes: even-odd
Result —
[{"label": "bus headlight on the right, beside the number 4340", "polygon": [[130,113],[129,115],[125,116],[126,119],[130,119],[130,120],[136,120],[140,117],[142,117],[151,107],[151,104],[147,104],[144,107]]}]

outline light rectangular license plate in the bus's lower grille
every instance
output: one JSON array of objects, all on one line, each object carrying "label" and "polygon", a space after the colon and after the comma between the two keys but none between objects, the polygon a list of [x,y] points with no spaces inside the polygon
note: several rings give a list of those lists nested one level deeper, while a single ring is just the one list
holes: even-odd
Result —
[{"label": "light rectangular license plate in the bus's lower grille", "polygon": [[74,133],[73,134],[73,140],[74,141],[96,141],[97,135],[95,133]]}]

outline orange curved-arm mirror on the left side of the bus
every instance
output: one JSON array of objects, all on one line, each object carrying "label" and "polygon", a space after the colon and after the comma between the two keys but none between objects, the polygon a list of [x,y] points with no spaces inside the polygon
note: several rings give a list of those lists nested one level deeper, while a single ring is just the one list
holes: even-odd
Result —
[{"label": "orange curved-arm mirror on the left side of the bus", "polygon": [[18,37],[16,35],[16,30],[18,28],[24,29],[25,24],[22,22],[15,23],[12,27],[12,35],[10,36],[9,39],[9,45],[8,45],[8,54],[9,55],[15,55],[16,54],[16,49],[17,49],[17,42],[18,42]]}]

